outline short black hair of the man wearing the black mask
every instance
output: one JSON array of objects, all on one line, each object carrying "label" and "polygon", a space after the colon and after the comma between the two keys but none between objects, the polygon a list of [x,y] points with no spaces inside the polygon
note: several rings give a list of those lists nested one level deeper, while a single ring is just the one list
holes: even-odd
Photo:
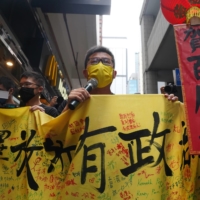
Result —
[{"label": "short black hair of the man wearing the black mask", "polygon": [[24,77],[32,78],[37,85],[45,87],[45,81],[44,81],[43,76],[37,72],[26,71],[21,75],[20,79],[22,79]]}]

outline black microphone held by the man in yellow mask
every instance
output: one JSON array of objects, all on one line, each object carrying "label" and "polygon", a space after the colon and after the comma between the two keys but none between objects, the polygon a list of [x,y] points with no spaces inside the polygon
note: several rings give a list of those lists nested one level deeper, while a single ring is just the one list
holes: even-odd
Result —
[{"label": "black microphone held by the man in yellow mask", "polygon": [[[86,86],[84,87],[88,92],[91,92],[94,88],[96,88],[98,85],[98,81],[95,78],[91,78]],[[79,105],[79,101],[78,100],[72,100],[70,102],[70,104],[68,105],[70,110],[74,110],[78,105]]]}]

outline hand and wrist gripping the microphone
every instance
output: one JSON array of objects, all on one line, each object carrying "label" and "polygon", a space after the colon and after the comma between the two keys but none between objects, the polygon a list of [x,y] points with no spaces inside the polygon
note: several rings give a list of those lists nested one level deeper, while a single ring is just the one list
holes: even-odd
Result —
[{"label": "hand and wrist gripping the microphone", "polygon": [[67,105],[63,109],[62,113],[68,110],[68,105],[72,100],[83,102],[88,98],[90,98],[90,93],[87,90],[85,90],[85,88],[78,88],[78,89],[72,90],[68,96]]}]

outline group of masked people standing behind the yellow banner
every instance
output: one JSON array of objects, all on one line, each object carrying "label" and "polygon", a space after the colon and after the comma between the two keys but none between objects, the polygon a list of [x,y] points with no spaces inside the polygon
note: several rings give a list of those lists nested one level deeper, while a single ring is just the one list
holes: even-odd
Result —
[{"label": "group of masked people standing behind the yellow banner", "polygon": [[[111,91],[111,84],[117,75],[115,70],[115,58],[112,52],[103,46],[95,46],[89,49],[85,56],[85,69],[83,74],[87,80],[95,78],[98,85],[90,93],[85,88],[77,88],[70,92],[68,99],[54,96],[49,105],[41,103],[40,96],[45,88],[45,81],[41,74],[33,71],[24,72],[19,81],[19,95],[25,106],[30,106],[30,111],[40,110],[46,114],[57,117],[69,109],[69,103],[77,100],[80,103],[92,95],[114,95]],[[0,77],[0,91],[7,92],[7,98],[0,96],[0,108],[16,108],[13,101],[15,84],[5,76]],[[177,101],[173,94],[164,94],[170,101]]]}]

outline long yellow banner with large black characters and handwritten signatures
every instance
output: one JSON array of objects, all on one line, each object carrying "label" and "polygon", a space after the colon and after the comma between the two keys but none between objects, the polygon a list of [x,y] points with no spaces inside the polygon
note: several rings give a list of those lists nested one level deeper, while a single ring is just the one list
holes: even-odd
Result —
[{"label": "long yellow banner with large black characters and handwritten signatures", "polygon": [[91,96],[57,118],[0,109],[1,200],[200,199],[184,107],[163,95]]}]

